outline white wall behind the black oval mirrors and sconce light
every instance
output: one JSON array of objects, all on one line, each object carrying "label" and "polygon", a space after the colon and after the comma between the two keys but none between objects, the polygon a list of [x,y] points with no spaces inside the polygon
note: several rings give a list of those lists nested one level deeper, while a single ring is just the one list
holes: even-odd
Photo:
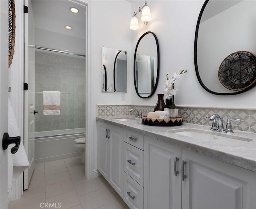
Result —
[{"label": "white wall behind the black oval mirrors and sconce light", "polygon": [[[255,88],[240,95],[213,95],[205,91],[196,78],[194,36],[196,22],[204,0],[148,0],[147,2],[152,20],[145,26],[140,20],[141,14],[138,14],[140,29],[132,31],[132,53],[134,53],[136,42],[142,34],[147,31],[154,32],[158,37],[160,47],[160,77],[158,88],[149,99],[141,99],[136,96],[132,86],[132,104],[156,104],[157,94],[164,93],[162,86],[165,83],[165,74],[172,74],[174,71],[184,69],[188,73],[176,81],[176,87],[179,89],[175,96],[176,105],[256,108],[256,100],[252,99],[256,97]],[[143,5],[144,1],[133,1],[132,12],[136,12]],[[133,76],[133,72],[131,72],[131,76]]]}]

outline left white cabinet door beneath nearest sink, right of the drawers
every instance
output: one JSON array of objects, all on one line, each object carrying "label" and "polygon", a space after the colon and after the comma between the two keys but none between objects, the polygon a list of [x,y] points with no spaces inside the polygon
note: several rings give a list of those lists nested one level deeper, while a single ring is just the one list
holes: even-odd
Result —
[{"label": "left white cabinet door beneath nearest sink, right of the drawers", "polygon": [[144,208],[181,209],[181,148],[146,136],[144,142]]}]

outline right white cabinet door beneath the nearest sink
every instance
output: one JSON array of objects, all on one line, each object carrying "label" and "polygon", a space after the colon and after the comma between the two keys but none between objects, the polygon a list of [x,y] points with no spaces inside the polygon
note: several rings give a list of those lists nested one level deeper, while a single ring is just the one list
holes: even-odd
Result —
[{"label": "right white cabinet door beneath the nearest sink", "polygon": [[256,207],[256,173],[182,150],[186,161],[182,209],[252,209]]}]

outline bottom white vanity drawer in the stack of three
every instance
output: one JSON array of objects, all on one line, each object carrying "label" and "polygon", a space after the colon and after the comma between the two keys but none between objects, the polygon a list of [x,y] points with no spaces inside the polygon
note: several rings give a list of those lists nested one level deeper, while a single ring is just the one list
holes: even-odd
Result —
[{"label": "bottom white vanity drawer in the stack of three", "polygon": [[131,209],[143,208],[143,187],[125,172],[123,199]]}]

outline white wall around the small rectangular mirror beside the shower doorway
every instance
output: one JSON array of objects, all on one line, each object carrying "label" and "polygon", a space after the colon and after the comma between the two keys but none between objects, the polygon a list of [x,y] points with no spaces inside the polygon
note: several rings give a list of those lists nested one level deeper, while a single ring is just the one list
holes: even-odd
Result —
[{"label": "white wall around the small rectangular mirror beside the shower doorway", "polygon": [[[133,86],[130,31],[131,3],[121,1],[92,1],[92,118],[96,117],[96,104],[130,104]],[[102,46],[127,51],[127,93],[126,101],[121,101],[122,93],[102,92]],[[97,130],[96,120],[87,121],[94,127],[94,170],[97,168]]]}]

